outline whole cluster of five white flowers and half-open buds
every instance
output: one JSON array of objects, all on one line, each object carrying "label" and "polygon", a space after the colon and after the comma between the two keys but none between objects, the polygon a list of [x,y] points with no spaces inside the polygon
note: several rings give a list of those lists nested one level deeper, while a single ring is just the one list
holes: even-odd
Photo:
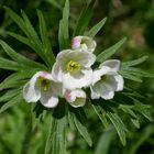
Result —
[{"label": "whole cluster of five white flowers and half-open buds", "polygon": [[74,37],[72,50],[58,53],[51,73],[38,72],[24,86],[24,99],[28,102],[40,100],[44,107],[54,108],[62,97],[77,108],[86,103],[84,89],[87,87],[90,87],[91,99],[112,99],[114,91],[123,89],[123,78],[118,74],[120,61],[106,61],[92,70],[96,45],[91,37]]}]

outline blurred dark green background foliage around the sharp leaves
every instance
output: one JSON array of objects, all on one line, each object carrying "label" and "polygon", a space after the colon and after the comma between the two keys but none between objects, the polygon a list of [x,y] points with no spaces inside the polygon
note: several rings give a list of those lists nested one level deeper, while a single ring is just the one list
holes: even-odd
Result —
[{"label": "blurred dark green background foliage around the sharp leaves", "polygon": [[[87,0],[88,1],[88,0]],[[70,0],[70,35],[76,21],[87,1]],[[48,36],[55,55],[58,51],[58,23],[65,0],[0,0],[0,38],[10,44],[16,52],[40,61],[31,48],[18,42],[7,34],[12,31],[22,34],[22,31],[4,12],[3,6],[11,8],[16,13],[21,9],[25,11],[32,24],[38,30],[36,9],[40,9],[45,18]],[[87,31],[103,18],[108,21],[103,29],[95,37],[98,42],[98,51],[113,45],[122,37],[128,41],[114,55],[121,61],[131,61],[147,55],[148,59],[140,67],[150,72],[154,70],[154,0],[96,0],[94,16]],[[2,48],[0,56],[8,57]],[[11,72],[0,70],[0,81]],[[128,81],[136,91],[147,94],[147,101],[154,105],[154,81],[144,78],[143,84]],[[29,127],[31,112],[29,105],[21,103],[0,114],[0,154],[43,154],[45,135],[48,127],[47,118],[42,120],[35,132],[31,133]],[[138,130],[131,124],[128,132],[128,144],[122,146],[112,125],[105,130],[98,117],[89,110],[86,125],[94,140],[94,146],[89,147],[77,132],[68,129],[69,154],[154,154],[154,124],[141,118],[141,128]],[[154,116],[154,111],[152,111]],[[125,123],[128,122],[125,118]],[[26,138],[29,135],[29,138]]]}]

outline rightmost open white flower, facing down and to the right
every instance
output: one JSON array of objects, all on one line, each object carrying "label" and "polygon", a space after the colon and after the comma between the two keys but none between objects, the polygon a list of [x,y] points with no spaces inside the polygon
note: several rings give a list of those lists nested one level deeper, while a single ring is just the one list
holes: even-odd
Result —
[{"label": "rightmost open white flower, facing down and to the right", "polygon": [[118,74],[120,61],[106,61],[94,72],[94,80],[90,86],[92,99],[112,99],[114,91],[123,90],[123,77]]}]

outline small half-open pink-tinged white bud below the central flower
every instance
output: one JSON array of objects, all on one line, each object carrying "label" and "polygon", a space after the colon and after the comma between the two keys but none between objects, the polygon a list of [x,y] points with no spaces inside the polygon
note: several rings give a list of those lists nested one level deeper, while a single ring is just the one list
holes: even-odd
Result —
[{"label": "small half-open pink-tinged white bud below the central flower", "polygon": [[64,96],[74,108],[82,107],[86,103],[86,94],[81,89],[66,90]]}]

